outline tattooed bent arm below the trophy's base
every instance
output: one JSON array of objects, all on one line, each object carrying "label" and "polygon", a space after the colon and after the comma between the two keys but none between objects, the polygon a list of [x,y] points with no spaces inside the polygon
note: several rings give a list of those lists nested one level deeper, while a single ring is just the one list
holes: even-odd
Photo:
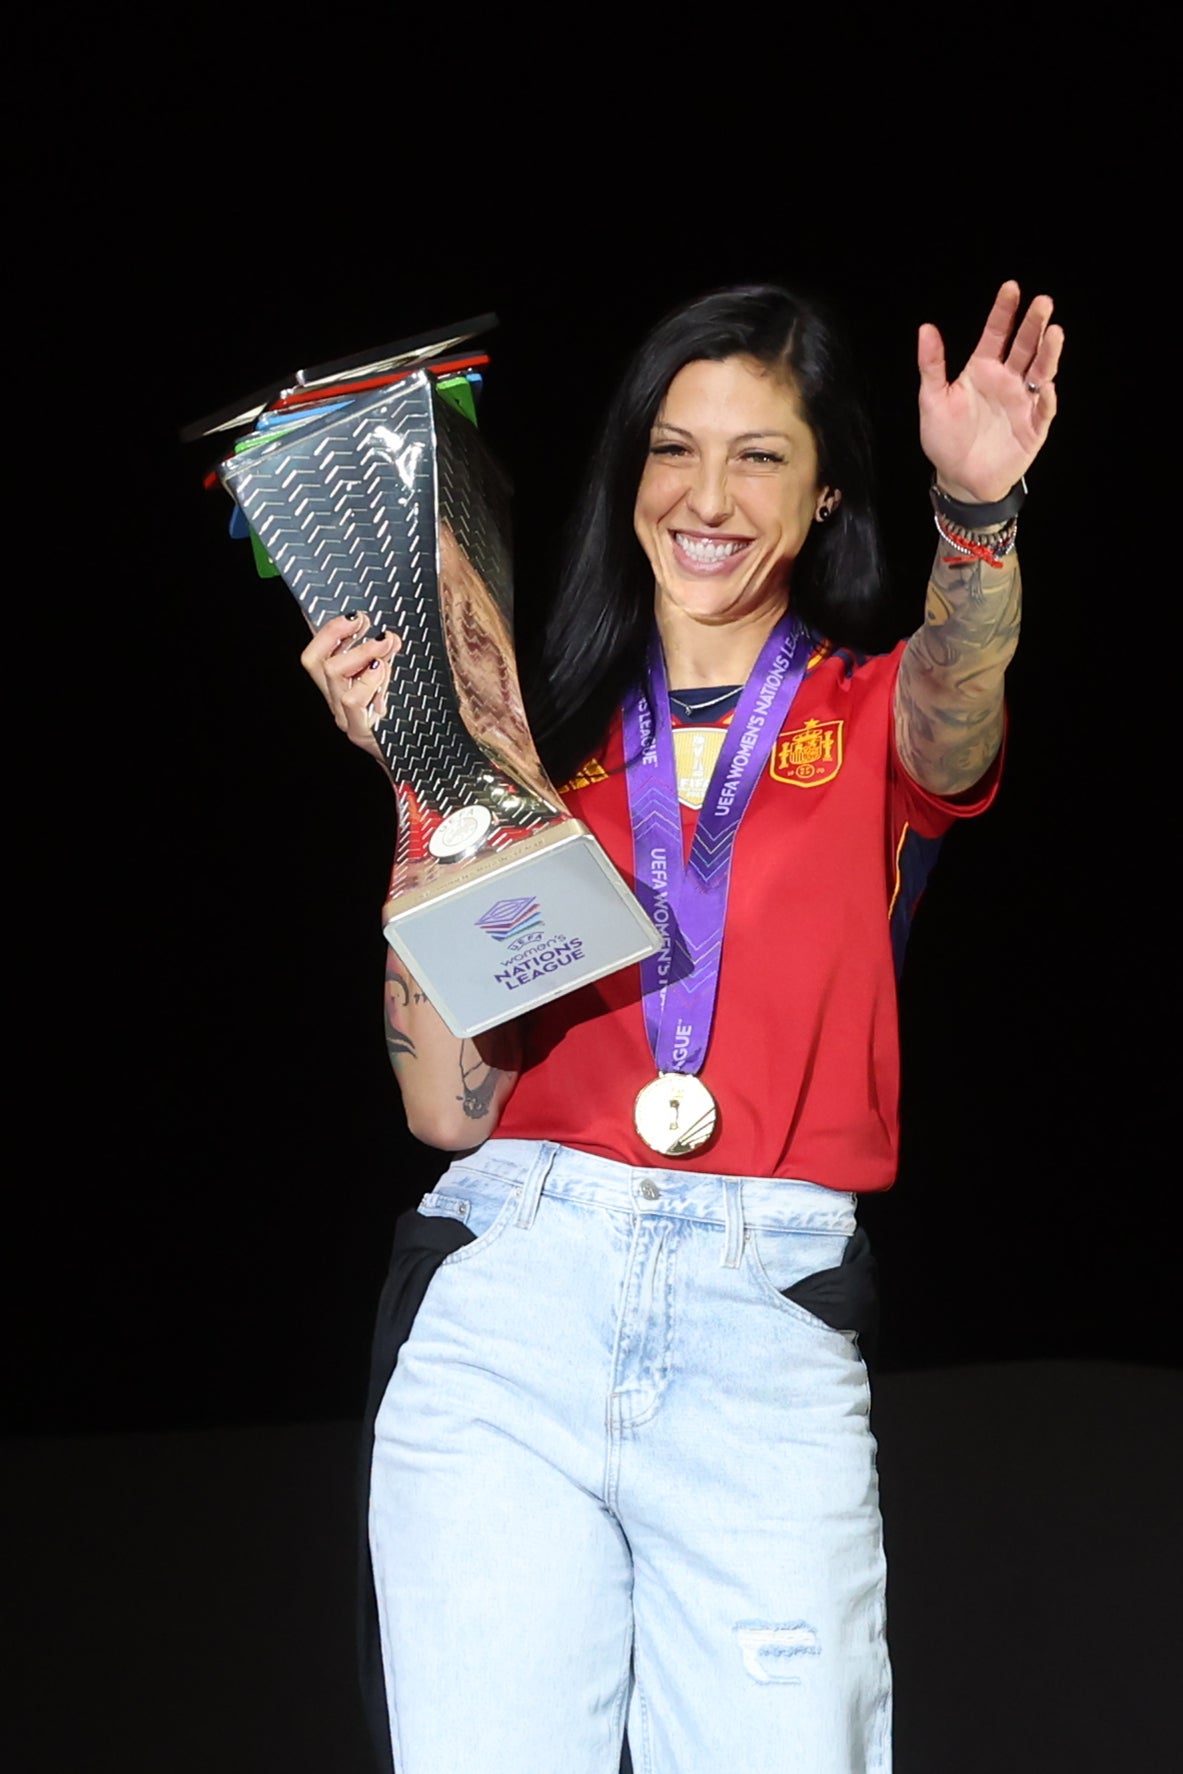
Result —
[{"label": "tattooed bent arm below the trophy's base", "polygon": [[443,1151],[481,1146],[518,1082],[518,1029],[505,1024],[475,1040],[459,1040],[394,949],[387,954],[385,1001],[387,1052],[411,1134]]}]

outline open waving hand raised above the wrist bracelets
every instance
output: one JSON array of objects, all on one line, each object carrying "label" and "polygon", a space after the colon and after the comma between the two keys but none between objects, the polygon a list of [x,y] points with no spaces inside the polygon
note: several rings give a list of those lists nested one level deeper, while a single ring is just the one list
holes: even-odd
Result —
[{"label": "open waving hand raised above the wrist bracelets", "polygon": [[921,447],[940,486],[967,504],[1006,498],[1055,419],[1064,328],[1050,325],[1050,296],[1036,296],[1016,326],[1018,307],[1018,284],[1006,282],[956,381],[938,330],[926,321],[917,339]]}]

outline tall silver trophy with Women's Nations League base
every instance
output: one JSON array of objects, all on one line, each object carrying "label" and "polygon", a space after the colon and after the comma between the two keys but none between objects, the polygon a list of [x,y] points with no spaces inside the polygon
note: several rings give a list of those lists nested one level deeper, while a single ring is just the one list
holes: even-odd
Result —
[{"label": "tall silver trophy with Women's Nations League base", "polygon": [[385,935],[472,1036],[662,938],[537,759],[502,475],[443,365],[392,362],[303,373],[216,472],[314,628],[364,610],[401,637],[374,729],[399,816]]}]

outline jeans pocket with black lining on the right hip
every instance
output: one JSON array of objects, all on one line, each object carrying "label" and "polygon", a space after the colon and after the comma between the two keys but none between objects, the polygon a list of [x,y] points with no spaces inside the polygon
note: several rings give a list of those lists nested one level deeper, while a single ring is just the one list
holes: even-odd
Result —
[{"label": "jeans pocket with black lining on the right hip", "polygon": [[850,1236],[823,1233],[752,1233],[752,1267],[793,1316],[827,1330],[873,1338],[878,1277],[862,1226]]}]

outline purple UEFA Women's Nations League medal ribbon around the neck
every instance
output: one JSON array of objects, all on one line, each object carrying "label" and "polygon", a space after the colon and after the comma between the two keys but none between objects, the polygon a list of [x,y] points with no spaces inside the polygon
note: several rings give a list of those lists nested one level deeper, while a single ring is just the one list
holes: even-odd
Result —
[{"label": "purple UEFA Women's Nations League medal ribbon around the neck", "polygon": [[656,628],[644,688],[624,697],[624,782],[637,898],[662,933],[640,963],[646,1032],[658,1071],[701,1071],[715,1020],[731,853],[756,781],[805,676],[809,639],[787,614],[743,687],[683,864],[674,729]]}]

